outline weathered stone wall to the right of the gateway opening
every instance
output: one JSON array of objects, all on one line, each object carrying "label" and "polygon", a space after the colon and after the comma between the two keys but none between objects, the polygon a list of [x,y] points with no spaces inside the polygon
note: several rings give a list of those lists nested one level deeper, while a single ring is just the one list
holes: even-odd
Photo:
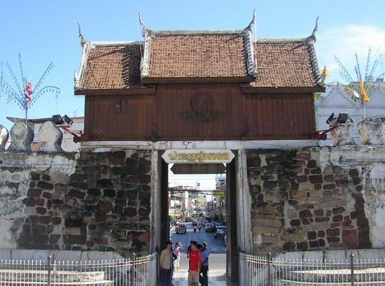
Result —
[{"label": "weathered stone wall to the right of the gateway opening", "polygon": [[[382,209],[368,203],[377,193],[367,178],[375,164],[385,162],[384,148],[375,161],[370,150],[364,152],[364,161],[344,161],[346,150],[363,147],[344,148],[339,149],[338,163],[324,160],[337,147],[248,150],[255,252],[373,246],[373,231],[379,229],[373,213]],[[377,240],[375,247],[385,243]]]}]

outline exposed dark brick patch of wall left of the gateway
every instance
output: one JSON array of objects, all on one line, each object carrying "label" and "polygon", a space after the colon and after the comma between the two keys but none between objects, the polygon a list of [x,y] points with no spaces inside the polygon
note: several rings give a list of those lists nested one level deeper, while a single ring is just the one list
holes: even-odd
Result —
[{"label": "exposed dark brick patch of wall left of the gateway", "polygon": [[68,183],[31,172],[19,247],[148,254],[150,171],[150,151],[121,150],[80,154]]}]

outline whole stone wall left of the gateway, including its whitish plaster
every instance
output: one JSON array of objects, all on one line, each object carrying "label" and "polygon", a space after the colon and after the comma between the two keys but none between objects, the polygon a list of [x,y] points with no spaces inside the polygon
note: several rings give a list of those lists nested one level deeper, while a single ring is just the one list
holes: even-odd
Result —
[{"label": "whole stone wall left of the gateway, including its whitish plaster", "polygon": [[150,157],[0,153],[1,248],[148,254]]}]

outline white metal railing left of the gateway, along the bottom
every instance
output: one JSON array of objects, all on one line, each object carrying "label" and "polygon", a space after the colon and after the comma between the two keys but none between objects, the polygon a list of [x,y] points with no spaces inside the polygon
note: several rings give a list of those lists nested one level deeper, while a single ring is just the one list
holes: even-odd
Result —
[{"label": "white metal railing left of the gateway, along the bottom", "polygon": [[0,261],[0,285],[152,286],[157,254],[101,261]]}]

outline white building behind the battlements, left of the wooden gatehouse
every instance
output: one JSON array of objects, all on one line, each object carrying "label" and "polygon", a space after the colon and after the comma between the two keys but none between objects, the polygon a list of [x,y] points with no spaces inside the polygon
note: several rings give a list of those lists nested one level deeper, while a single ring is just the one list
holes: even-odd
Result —
[{"label": "white building behind the battlements, left of the wooden gatehouse", "polygon": [[[7,116],[7,119],[16,123],[18,121],[25,121],[25,119],[17,118],[17,117],[10,117]],[[84,117],[73,117],[71,118],[73,123],[69,129],[73,132],[76,132],[77,134],[80,134],[84,130]],[[39,150],[39,128],[41,125],[46,121],[52,121],[52,117],[50,118],[40,118],[40,119],[27,119],[27,125],[32,128],[34,132],[34,139],[32,143],[32,150],[37,151]],[[63,151],[66,152],[79,152],[80,143],[75,143],[72,139],[72,134],[68,133],[66,130],[63,130],[60,128],[61,132],[63,132],[63,141],[61,142],[61,148]]]}]

